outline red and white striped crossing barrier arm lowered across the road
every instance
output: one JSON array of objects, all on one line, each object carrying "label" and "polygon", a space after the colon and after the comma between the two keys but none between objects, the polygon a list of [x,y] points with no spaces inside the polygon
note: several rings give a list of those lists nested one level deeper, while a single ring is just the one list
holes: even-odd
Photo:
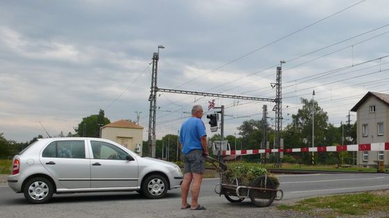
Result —
[{"label": "red and white striped crossing barrier arm lowered across the road", "polygon": [[293,152],[360,152],[360,151],[388,151],[388,143],[371,143],[359,145],[338,145],[338,146],[319,146],[319,147],[301,147],[287,149],[251,149],[251,150],[223,150],[223,155],[248,155],[264,153],[293,153]]}]

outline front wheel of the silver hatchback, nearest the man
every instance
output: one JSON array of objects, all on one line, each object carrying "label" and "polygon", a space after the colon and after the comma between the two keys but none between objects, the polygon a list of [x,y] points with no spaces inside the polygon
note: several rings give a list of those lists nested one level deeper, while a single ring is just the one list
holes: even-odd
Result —
[{"label": "front wheel of the silver hatchback, nearest the man", "polygon": [[167,181],[163,176],[151,175],[144,179],[142,193],[149,199],[160,199],[167,193]]}]

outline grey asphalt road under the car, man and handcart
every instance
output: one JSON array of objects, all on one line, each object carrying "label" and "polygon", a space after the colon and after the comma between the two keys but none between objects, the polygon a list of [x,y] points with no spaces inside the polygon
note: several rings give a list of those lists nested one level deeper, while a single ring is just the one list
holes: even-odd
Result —
[{"label": "grey asphalt road under the car, man and handcart", "polygon": [[268,208],[256,208],[249,199],[229,203],[215,194],[218,179],[206,179],[199,202],[205,211],[181,210],[181,190],[170,190],[164,199],[145,199],[136,192],[60,194],[51,202],[28,204],[23,194],[0,186],[0,217],[307,217],[298,212],[278,211],[280,203],[326,194],[389,189],[389,174],[279,175],[284,198]]}]

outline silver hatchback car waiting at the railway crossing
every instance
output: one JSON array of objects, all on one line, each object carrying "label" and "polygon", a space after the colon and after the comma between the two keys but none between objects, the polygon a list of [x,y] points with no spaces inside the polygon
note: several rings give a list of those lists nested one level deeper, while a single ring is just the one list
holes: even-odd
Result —
[{"label": "silver hatchback car waiting at the railway crossing", "polygon": [[54,193],[137,191],[151,199],[180,188],[183,174],[167,161],[141,157],[102,138],[43,138],[13,158],[8,185],[31,203]]}]

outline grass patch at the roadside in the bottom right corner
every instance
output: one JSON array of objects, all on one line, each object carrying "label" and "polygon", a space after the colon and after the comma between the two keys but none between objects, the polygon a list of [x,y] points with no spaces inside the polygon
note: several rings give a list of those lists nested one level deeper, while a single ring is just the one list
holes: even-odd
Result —
[{"label": "grass patch at the roadside in the bottom right corner", "polygon": [[294,210],[315,217],[343,217],[384,213],[389,216],[389,191],[338,194],[329,197],[315,197],[297,201],[293,205],[281,204],[279,210]]}]

